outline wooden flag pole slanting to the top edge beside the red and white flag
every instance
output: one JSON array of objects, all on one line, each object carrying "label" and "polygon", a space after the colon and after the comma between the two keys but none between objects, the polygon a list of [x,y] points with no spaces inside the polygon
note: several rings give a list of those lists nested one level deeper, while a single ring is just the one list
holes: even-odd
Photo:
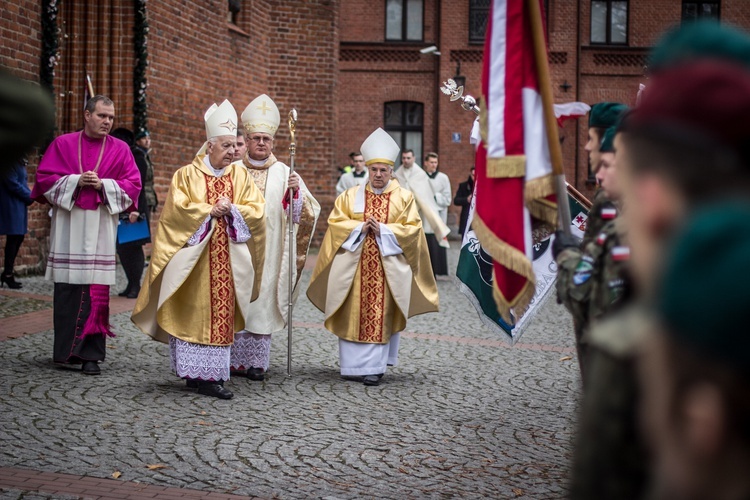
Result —
[{"label": "wooden flag pole slanting to the top edge beside the red and white flag", "polygon": [[552,98],[552,84],[550,82],[549,62],[547,60],[547,43],[544,38],[544,26],[542,24],[542,9],[539,7],[539,0],[527,0],[527,3],[529,6],[529,19],[531,21],[531,37],[534,40],[534,60],[536,62],[536,72],[539,77],[539,93],[542,96],[542,107],[544,108],[544,126],[547,130],[552,173],[555,176],[557,214],[560,219],[559,227],[566,235],[570,235],[571,217],[570,206],[568,205],[568,188],[565,182],[565,172],[563,171],[562,149],[560,148],[557,118],[555,118]]}]

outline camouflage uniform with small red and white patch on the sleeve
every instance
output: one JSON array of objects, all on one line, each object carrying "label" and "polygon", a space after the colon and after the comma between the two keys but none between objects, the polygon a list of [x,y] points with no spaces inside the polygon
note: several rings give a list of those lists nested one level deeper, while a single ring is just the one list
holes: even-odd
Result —
[{"label": "camouflage uniform with small red and white patch on the sleeve", "polygon": [[613,220],[583,249],[568,247],[557,256],[557,300],[573,315],[578,363],[586,368],[586,333],[626,295],[630,250],[623,244],[622,224]]}]

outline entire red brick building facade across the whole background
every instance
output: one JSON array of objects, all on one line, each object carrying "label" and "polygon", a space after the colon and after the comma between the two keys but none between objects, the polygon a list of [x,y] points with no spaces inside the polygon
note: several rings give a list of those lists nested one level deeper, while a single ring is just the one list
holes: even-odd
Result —
[{"label": "entire red brick building facade across the whole background", "polygon": [[[134,0],[18,0],[0,10],[0,65],[39,81],[43,6],[54,6],[60,58],[54,90],[58,133],[82,126],[86,74],[117,105],[115,126],[134,124]],[[337,167],[383,126],[419,156],[440,154],[455,192],[473,164],[472,113],[440,93],[460,73],[480,94],[482,26],[489,0],[223,0],[147,5],[148,128],[156,189],[189,163],[204,140],[203,111],[228,98],[241,113],[260,93],[278,104],[282,121],[299,112],[297,164],[325,218],[335,198]],[[633,103],[650,47],[683,17],[705,12],[750,28],[747,0],[545,0],[556,102]],[[236,9],[235,9],[236,10]],[[593,23],[592,23],[593,19]],[[435,46],[430,53],[420,49]],[[439,52],[439,55],[437,53]],[[569,182],[591,194],[585,121],[561,131]],[[282,123],[277,156],[288,159]],[[37,157],[30,159],[33,182]],[[32,205],[17,269],[40,269],[49,238],[46,208]],[[449,224],[457,226],[457,207]],[[4,237],[0,236],[0,255]]]}]

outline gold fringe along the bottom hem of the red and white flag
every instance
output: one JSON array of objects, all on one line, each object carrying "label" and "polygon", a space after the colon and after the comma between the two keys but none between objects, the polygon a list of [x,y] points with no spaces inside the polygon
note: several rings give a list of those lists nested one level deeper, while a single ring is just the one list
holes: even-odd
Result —
[{"label": "gold fringe along the bottom hem of the red and white flag", "polygon": [[497,288],[497,280],[494,279],[493,271],[493,297],[495,299],[495,304],[497,305],[497,309],[502,318],[508,323],[513,323],[510,314],[511,308],[514,309],[516,317],[520,317],[521,314],[523,314],[523,311],[526,311],[531,299],[534,297],[534,292],[536,290],[536,275],[534,274],[534,268],[531,265],[531,261],[526,257],[525,253],[495,236],[477,214],[474,214],[474,220],[471,223],[471,227],[474,229],[479,242],[482,244],[482,249],[490,254],[493,260],[527,279],[527,283],[521,290],[521,293],[511,300],[508,300]]}]

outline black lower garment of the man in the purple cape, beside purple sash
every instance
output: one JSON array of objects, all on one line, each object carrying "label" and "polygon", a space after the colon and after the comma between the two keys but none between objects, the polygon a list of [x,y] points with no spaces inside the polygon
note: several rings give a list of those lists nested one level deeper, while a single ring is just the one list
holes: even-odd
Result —
[{"label": "black lower garment of the man in the purple cape, beside purple sash", "polygon": [[104,335],[81,337],[91,313],[89,285],[55,283],[54,295],[55,363],[104,361],[107,345]]}]

